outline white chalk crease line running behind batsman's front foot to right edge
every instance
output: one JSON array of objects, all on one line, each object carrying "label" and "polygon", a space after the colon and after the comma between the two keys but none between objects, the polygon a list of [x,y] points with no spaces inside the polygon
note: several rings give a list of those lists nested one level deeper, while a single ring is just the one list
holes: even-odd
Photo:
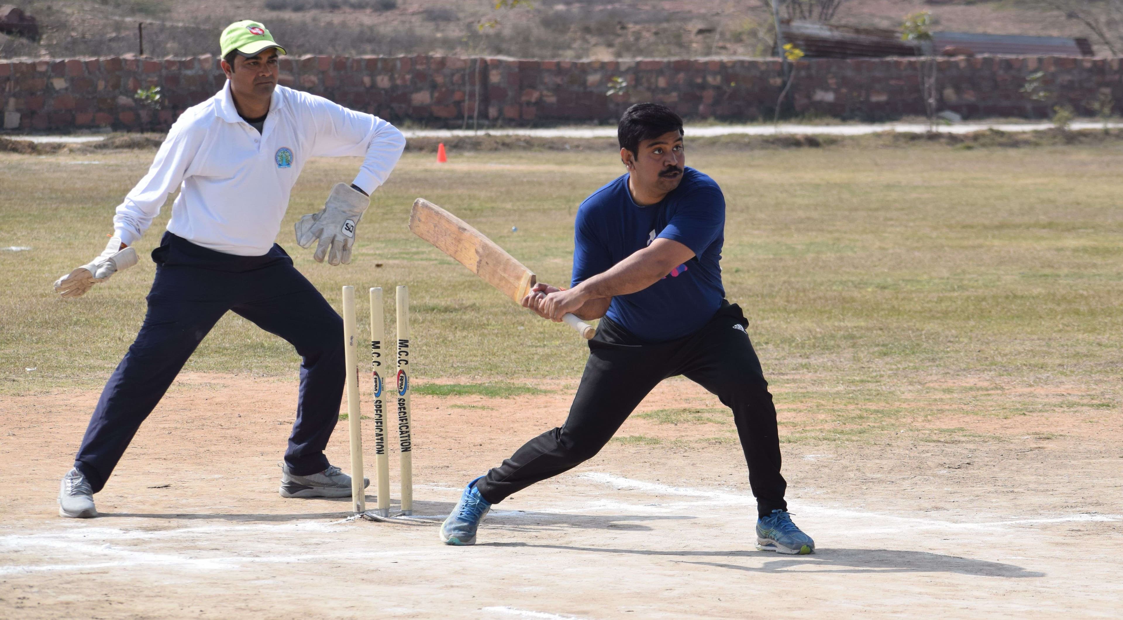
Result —
[{"label": "white chalk crease line running behind batsman's front foot to right edge", "polygon": [[[742,495],[739,493],[730,493],[727,491],[716,490],[702,490],[702,489],[691,489],[688,486],[670,486],[668,484],[660,484],[657,482],[645,482],[640,480],[628,478],[623,476],[617,476],[612,474],[605,474],[603,472],[587,472],[584,474],[578,474],[578,477],[586,480],[592,480],[601,484],[606,484],[610,486],[615,486],[621,490],[636,490],[643,491],[651,494],[660,495],[679,495],[679,496],[691,496],[691,498],[704,498],[702,501],[697,502],[685,502],[685,503],[667,503],[661,504],[660,509],[673,509],[684,505],[756,505],[756,499],[751,495]],[[624,507],[631,507],[633,509],[640,509],[643,512],[650,512],[652,507],[637,507],[636,504],[627,504],[622,502],[614,502],[611,500],[601,500],[594,502],[590,508],[604,508],[604,509],[621,509]],[[647,509],[647,510],[643,510]],[[838,508],[828,508],[823,505],[816,505],[812,503],[800,502],[800,512],[809,516],[823,516],[823,517],[843,517],[852,519],[870,520],[876,519],[879,521],[898,521],[910,523],[912,526],[929,527],[929,528],[942,528],[942,529],[1002,529],[1006,526],[1028,526],[1028,525],[1044,525],[1044,523],[1071,523],[1071,522],[1115,522],[1123,521],[1123,516],[1121,514],[1066,514],[1061,517],[1043,517],[1037,519],[1010,519],[1004,521],[990,521],[983,523],[971,523],[971,522],[955,522],[955,521],[941,521],[938,519],[920,519],[915,517],[901,517],[896,514],[884,514],[878,512],[867,512],[861,510],[843,510]],[[866,529],[866,528],[864,528]],[[875,529],[897,529],[897,528],[875,528]]]}]

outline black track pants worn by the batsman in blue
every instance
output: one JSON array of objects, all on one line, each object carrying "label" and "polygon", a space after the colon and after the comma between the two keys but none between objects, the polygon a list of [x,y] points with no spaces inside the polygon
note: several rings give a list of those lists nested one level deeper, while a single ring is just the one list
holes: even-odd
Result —
[{"label": "black track pants worn by the batsman in blue", "polygon": [[480,493],[497,503],[592,458],[660,381],[685,375],[733,410],[758,512],[786,510],[776,408],[747,325],[737,304],[723,303],[696,332],[650,345],[602,320],[588,341],[588,362],[565,423],[527,441],[487,472],[476,483]]}]

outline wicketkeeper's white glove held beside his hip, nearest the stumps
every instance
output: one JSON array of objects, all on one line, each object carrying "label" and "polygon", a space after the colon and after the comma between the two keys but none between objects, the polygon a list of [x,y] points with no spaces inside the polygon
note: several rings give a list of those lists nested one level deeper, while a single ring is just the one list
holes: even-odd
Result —
[{"label": "wicketkeeper's white glove held beside his hip, nearest the stumps", "polygon": [[320,239],[312,255],[317,263],[322,263],[325,255],[331,265],[350,263],[355,230],[369,204],[371,198],[363,192],[346,183],[336,183],[319,213],[310,213],[296,221],[296,245],[308,247]]}]

